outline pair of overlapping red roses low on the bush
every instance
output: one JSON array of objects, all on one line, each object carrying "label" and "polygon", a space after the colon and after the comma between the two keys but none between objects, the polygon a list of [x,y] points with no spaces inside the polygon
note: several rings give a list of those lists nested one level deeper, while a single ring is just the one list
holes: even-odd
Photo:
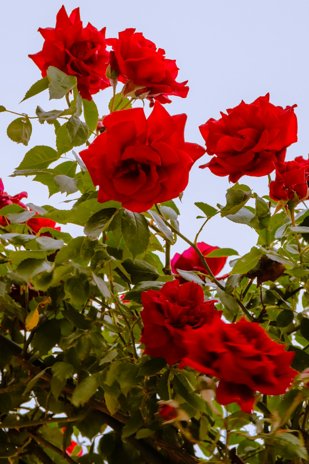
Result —
[{"label": "pair of overlapping red roses low on the bush", "polygon": [[168,282],[159,291],[143,292],[142,303],[145,354],[219,378],[216,397],[223,405],[237,402],[251,412],[256,391],[284,393],[297,374],[290,367],[293,352],[258,324],[223,322],[215,300],[204,301],[198,284]]}]

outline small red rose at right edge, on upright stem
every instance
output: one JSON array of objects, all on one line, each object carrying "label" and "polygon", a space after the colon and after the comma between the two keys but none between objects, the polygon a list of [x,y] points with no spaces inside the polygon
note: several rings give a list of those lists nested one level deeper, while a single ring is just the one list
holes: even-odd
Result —
[{"label": "small red rose at right edge, on upright stem", "polygon": [[305,166],[296,161],[276,163],[276,178],[269,185],[269,195],[273,200],[298,202],[307,196],[308,184]]}]

